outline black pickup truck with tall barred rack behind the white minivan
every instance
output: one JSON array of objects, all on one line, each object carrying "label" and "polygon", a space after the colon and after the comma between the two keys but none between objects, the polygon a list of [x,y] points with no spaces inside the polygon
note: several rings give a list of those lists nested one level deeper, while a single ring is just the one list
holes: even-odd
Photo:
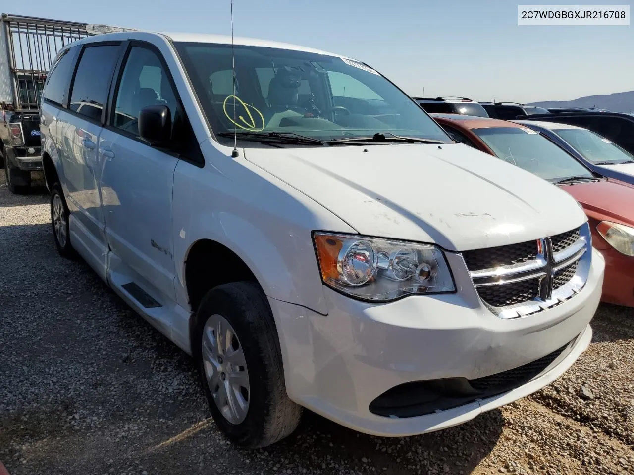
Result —
[{"label": "black pickup truck with tall barred rack behind the white minivan", "polygon": [[57,52],[86,37],[86,23],[3,13],[0,17],[0,165],[11,193],[42,170],[39,102]]}]

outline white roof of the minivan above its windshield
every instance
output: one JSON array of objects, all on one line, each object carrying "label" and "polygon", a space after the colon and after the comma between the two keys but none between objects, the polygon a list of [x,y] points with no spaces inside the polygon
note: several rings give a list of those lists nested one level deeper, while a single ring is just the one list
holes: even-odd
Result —
[{"label": "white roof of the minivan above its windshield", "polygon": [[[94,41],[108,41],[108,39],[121,40],[129,38],[138,38],[146,35],[155,35],[160,37],[167,37],[172,41],[188,41],[198,43],[212,43],[212,44],[231,44],[231,36],[228,35],[211,35],[211,34],[199,34],[199,33],[178,33],[178,32],[152,32],[152,31],[127,31],[121,33],[105,33],[101,35],[94,35],[88,38],[84,38],[75,42],[79,44],[82,42],[94,42]],[[348,58],[341,54],[328,53],[327,51],[321,51],[321,49],[314,49],[306,46],[299,46],[297,44],[283,43],[277,41],[268,41],[256,38],[247,37],[234,37],[233,44],[236,46],[262,46],[279,49],[290,49],[293,51],[305,51],[306,53],[325,54],[327,56],[335,56],[337,58],[346,58],[353,60],[354,58]],[[355,60],[358,61],[358,60]]]}]

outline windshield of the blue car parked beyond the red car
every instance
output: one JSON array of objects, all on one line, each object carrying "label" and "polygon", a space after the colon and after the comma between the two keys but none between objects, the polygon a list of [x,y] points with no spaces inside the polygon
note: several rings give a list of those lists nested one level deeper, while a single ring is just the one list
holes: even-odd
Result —
[{"label": "windshield of the blue car parked beyond the red car", "polygon": [[553,130],[589,162],[606,164],[633,163],[634,156],[617,144],[586,129]]}]

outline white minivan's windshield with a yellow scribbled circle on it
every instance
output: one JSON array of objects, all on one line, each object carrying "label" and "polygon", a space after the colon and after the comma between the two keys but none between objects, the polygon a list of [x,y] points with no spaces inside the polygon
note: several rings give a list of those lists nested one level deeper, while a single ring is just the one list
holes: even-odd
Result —
[{"label": "white minivan's windshield with a yellow scribbled circle on it", "polygon": [[175,46],[207,120],[223,144],[233,143],[222,135],[234,130],[301,134],[323,141],[380,132],[451,143],[406,94],[356,61],[235,46],[234,96],[230,44],[176,42]]}]

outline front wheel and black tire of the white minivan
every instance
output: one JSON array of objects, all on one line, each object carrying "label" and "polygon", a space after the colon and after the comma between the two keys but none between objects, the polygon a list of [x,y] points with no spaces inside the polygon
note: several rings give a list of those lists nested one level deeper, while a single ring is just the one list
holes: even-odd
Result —
[{"label": "front wheel and black tire of the white minivan", "polygon": [[280,343],[266,296],[253,282],[212,290],[197,312],[193,348],[209,409],[236,445],[266,447],[301,419],[284,383]]}]

